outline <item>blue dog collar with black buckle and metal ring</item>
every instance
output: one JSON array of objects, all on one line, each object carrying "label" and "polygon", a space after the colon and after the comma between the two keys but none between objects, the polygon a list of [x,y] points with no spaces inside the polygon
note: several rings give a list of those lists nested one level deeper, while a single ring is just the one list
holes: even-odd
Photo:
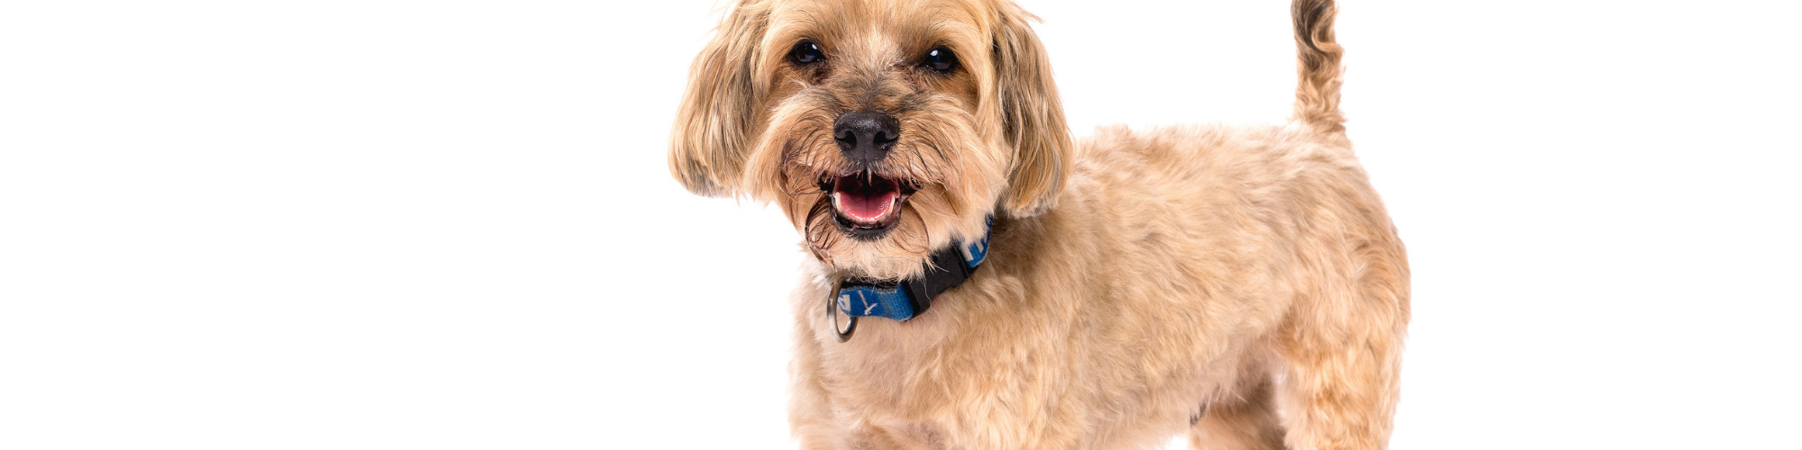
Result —
[{"label": "blue dog collar with black buckle and metal ring", "polygon": [[[939,293],[964,284],[989,256],[989,230],[995,220],[982,229],[982,239],[973,243],[953,243],[932,252],[932,265],[924,275],[903,281],[845,279],[834,295],[836,313],[851,317],[851,324],[838,333],[840,340],[849,340],[858,328],[858,317],[887,317],[908,320],[926,311]],[[838,315],[834,317],[834,324]]]}]

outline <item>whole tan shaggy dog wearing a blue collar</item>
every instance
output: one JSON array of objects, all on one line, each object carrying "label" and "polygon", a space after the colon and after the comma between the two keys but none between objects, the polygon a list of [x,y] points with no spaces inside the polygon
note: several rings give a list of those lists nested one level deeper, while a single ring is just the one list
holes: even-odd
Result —
[{"label": "whole tan shaggy dog wearing a blue collar", "polygon": [[669,164],[777,203],[802,448],[1384,448],[1407,257],[1294,0],[1294,117],[1065,126],[1009,0],[742,0]]}]

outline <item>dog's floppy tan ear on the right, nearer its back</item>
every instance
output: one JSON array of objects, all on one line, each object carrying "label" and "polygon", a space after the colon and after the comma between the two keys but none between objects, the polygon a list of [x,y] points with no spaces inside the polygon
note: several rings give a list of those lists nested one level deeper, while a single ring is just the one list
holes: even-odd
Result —
[{"label": "dog's floppy tan ear on the right, nearer its back", "polygon": [[1027,20],[1038,18],[1013,2],[1000,2],[995,90],[1000,95],[1002,133],[1015,148],[1002,209],[1016,218],[1036,216],[1056,203],[1063,176],[1070,173],[1072,151],[1058,85],[1051,79],[1051,59]]}]

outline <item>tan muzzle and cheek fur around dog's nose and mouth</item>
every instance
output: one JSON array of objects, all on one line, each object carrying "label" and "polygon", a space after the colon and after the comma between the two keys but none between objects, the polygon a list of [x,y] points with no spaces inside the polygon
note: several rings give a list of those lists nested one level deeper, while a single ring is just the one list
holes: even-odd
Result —
[{"label": "tan muzzle and cheek fur around dog's nose and mouth", "polygon": [[[914,99],[912,110],[896,113],[903,130],[894,149],[869,164],[845,160],[833,139],[833,122],[845,110],[840,101],[815,86],[786,99],[746,164],[748,187],[784,207],[820,263],[860,277],[901,279],[923,274],[933,248],[982,236],[1006,184],[1006,153],[980,139],[959,101]],[[888,212],[897,221],[883,232],[847,229],[822,182],[860,175],[910,189]]]}]

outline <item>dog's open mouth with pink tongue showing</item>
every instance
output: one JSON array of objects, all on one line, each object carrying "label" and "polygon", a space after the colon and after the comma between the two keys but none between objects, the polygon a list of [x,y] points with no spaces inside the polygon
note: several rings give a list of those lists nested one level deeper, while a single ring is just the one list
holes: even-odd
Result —
[{"label": "dog's open mouth with pink tongue showing", "polygon": [[833,218],[852,238],[881,238],[901,223],[901,203],[917,191],[912,182],[870,171],[820,178],[833,196]]}]

